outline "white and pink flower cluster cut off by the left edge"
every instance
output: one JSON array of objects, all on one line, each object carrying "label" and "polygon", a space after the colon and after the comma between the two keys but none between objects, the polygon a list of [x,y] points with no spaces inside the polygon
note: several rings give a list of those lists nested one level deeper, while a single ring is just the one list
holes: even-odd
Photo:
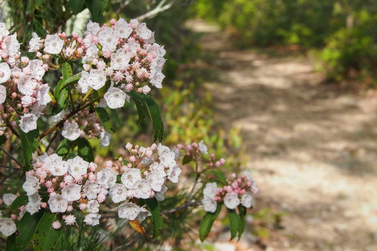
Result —
[{"label": "white and pink flower cluster cut off by the left edge", "polygon": [[[9,35],[4,23],[0,23],[0,105],[6,99],[16,104],[9,107],[19,110],[20,127],[24,132],[37,128],[41,111],[51,101],[50,87],[42,83],[48,66],[42,60],[20,58],[20,43],[16,34]],[[3,107],[1,107],[3,108]]]}]

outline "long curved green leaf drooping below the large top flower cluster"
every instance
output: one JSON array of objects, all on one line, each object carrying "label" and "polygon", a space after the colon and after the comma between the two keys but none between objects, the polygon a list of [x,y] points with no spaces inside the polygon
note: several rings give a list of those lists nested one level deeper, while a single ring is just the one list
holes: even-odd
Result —
[{"label": "long curved green leaf drooping below the large top flower cluster", "polygon": [[135,100],[137,113],[139,115],[139,125],[143,122],[145,116],[152,122],[153,127],[153,141],[163,139],[163,124],[159,106],[151,96],[138,93],[135,90],[127,93],[133,100]]}]

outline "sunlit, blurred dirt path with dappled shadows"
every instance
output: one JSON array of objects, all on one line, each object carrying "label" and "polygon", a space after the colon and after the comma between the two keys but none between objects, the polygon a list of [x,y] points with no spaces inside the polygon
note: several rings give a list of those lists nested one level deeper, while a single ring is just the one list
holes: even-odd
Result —
[{"label": "sunlit, blurred dirt path with dappled shadows", "polygon": [[[218,80],[205,87],[215,119],[242,128],[256,210],[286,213],[266,249],[377,250],[377,102],[321,84],[307,57],[233,50],[215,27],[189,25],[216,55]],[[239,250],[261,250],[253,240],[246,233]]]}]

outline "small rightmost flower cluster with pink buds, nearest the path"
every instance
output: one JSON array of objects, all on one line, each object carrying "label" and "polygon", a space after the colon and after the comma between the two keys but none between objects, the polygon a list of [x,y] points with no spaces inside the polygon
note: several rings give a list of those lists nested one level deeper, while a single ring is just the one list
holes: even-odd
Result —
[{"label": "small rightmost flower cluster with pink buds, nearest the path", "polygon": [[219,202],[223,202],[229,209],[235,209],[240,204],[246,208],[253,206],[253,197],[250,193],[258,193],[258,188],[247,171],[239,178],[236,174],[232,174],[232,178],[226,181],[228,184],[220,187],[217,187],[216,182],[206,184],[202,200],[205,211],[214,213]]}]

